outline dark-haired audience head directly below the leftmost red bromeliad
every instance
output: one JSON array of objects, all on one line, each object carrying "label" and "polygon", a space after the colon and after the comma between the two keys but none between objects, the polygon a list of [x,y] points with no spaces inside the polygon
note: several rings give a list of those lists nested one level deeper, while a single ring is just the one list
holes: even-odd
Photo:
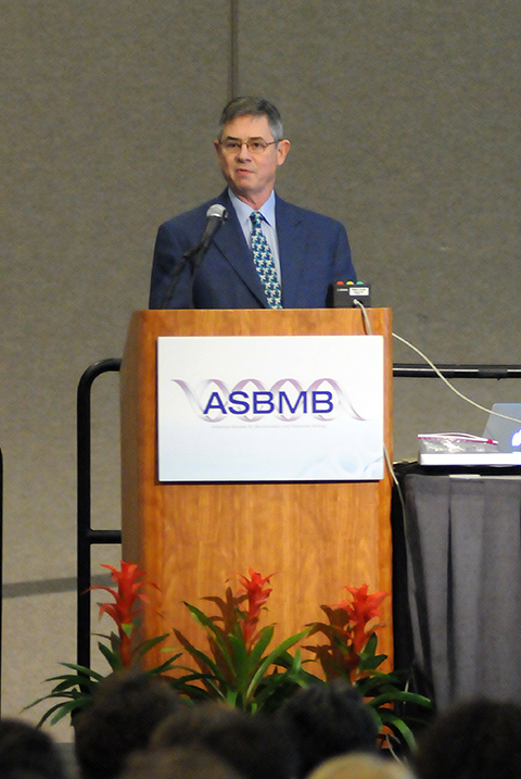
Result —
[{"label": "dark-haired audience head directly below the leftmost red bromeliad", "polygon": [[144,749],[162,719],[182,706],[168,683],[117,671],[103,679],[75,719],[76,758],[84,779],[112,779],[135,750]]}]

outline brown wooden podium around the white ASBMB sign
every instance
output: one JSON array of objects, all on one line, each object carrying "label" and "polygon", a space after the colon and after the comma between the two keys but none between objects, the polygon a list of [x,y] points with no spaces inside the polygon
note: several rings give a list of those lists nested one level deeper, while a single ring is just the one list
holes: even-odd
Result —
[{"label": "brown wooden podium around the white ASBMB sign", "polygon": [[[384,336],[384,440],[392,457],[391,312],[368,310],[373,335]],[[183,605],[206,614],[200,599],[237,591],[237,574],[274,574],[262,625],[276,623],[274,641],[325,618],[344,586],[390,593],[379,651],[391,659],[391,476],[380,481],[171,483],[157,480],[156,340],[160,336],[364,335],[355,309],[138,311],[120,370],[123,556],[139,563],[162,593],[145,610],[145,638],[178,628],[206,650],[203,629]],[[160,613],[162,612],[162,613]],[[168,645],[177,642],[173,638]],[[275,646],[275,643],[274,643]],[[164,656],[151,653],[150,662]]]}]

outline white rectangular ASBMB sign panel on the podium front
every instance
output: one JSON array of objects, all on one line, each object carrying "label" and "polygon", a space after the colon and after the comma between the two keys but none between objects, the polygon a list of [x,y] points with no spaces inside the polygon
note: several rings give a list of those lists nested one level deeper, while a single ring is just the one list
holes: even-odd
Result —
[{"label": "white rectangular ASBMB sign panel on the podium front", "polygon": [[383,478],[382,336],[157,339],[160,481]]}]

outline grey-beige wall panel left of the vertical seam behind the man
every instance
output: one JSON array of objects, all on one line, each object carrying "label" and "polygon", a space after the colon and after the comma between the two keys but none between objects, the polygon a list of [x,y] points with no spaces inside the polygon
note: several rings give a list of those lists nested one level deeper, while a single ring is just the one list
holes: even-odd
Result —
[{"label": "grey-beige wall panel left of the vertical seam behind the man", "polygon": [[[45,592],[75,575],[77,381],[120,356],[157,225],[221,186],[211,140],[229,90],[229,3],[20,0],[0,15],[4,578]],[[99,381],[94,524],[111,527],[117,388]],[[73,593],[7,602],[3,644],[3,711],[18,714],[75,657]]]}]

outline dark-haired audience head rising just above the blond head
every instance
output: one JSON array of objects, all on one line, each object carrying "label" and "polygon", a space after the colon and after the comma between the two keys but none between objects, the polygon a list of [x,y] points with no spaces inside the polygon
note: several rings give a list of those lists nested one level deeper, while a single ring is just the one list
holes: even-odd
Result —
[{"label": "dark-haired audience head rising just above the blond head", "polygon": [[329,757],[377,751],[376,719],[358,690],[343,679],[301,688],[277,719],[295,744],[298,778]]}]

